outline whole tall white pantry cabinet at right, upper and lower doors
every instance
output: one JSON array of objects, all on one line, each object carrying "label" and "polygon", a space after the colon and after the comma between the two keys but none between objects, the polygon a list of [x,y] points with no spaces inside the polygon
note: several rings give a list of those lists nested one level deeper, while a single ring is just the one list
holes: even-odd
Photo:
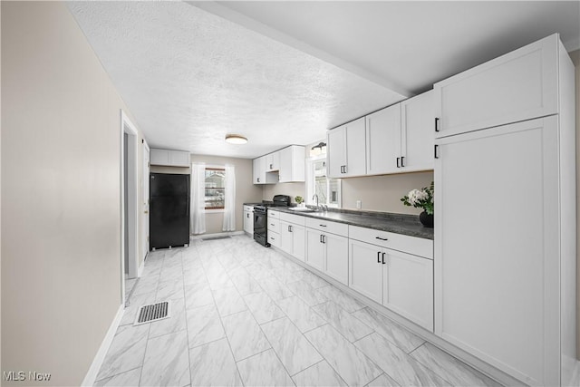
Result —
[{"label": "whole tall white pantry cabinet at right, upper and lower doors", "polygon": [[434,92],[435,333],[527,384],[568,385],[574,66],[554,34]]}]

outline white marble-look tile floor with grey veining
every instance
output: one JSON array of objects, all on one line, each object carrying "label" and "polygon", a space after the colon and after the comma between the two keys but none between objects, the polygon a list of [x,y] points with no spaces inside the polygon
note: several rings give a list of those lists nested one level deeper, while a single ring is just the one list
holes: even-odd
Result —
[{"label": "white marble-look tile floor with grey veining", "polygon": [[[133,326],[140,305],[171,317]],[[272,248],[151,252],[96,386],[498,386]]]}]

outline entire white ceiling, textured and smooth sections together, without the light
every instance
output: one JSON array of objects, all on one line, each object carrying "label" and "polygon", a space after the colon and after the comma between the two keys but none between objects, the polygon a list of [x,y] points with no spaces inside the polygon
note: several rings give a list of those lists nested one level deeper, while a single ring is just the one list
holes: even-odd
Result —
[{"label": "entire white ceiling, textured and smooth sections together, without the light", "polygon": [[151,146],[231,157],[323,139],[548,34],[580,48],[578,1],[67,4]]}]

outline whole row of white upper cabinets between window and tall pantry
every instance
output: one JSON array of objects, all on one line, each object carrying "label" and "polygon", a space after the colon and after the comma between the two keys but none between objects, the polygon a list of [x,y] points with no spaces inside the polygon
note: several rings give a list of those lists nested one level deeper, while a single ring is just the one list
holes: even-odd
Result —
[{"label": "whole row of white upper cabinets between window and tall pantry", "polygon": [[327,132],[329,176],[433,169],[433,91]]}]

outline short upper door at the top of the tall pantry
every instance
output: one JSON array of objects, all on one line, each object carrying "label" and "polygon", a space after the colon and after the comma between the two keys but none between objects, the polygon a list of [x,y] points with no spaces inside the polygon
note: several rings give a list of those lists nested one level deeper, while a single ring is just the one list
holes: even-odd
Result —
[{"label": "short upper door at the top of the tall pantry", "polygon": [[435,83],[436,137],[556,114],[557,49],[553,34]]}]

